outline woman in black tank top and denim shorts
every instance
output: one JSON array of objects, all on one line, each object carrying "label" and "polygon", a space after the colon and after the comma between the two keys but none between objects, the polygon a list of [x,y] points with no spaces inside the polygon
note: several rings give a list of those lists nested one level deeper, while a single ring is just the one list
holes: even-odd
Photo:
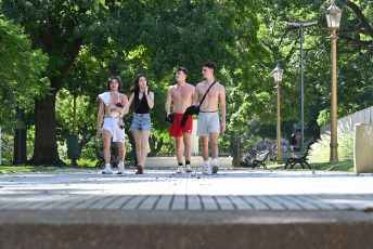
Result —
[{"label": "woman in black tank top and denim shorts", "polygon": [[138,75],[129,91],[129,101],[124,113],[127,114],[129,106],[134,104],[133,120],[130,127],[136,142],[136,155],[138,158],[137,174],[144,173],[144,165],[147,156],[147,141],[152,131],[151,116],[149,110],[154,107],[154,93],[147,91],[147,79],[145,75]]}]

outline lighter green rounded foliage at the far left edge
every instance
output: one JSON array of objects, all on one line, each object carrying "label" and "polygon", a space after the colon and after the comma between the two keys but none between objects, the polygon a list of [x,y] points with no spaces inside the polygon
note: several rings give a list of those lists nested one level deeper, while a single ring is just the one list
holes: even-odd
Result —
[{"label": "lighter green rounded foliage at the far left edge", "polygon": [[0,127],[18,127],[15,107],[30,108],[49,90],[41,76],[48,57],[35,50],[21,25],[0,15]]}]

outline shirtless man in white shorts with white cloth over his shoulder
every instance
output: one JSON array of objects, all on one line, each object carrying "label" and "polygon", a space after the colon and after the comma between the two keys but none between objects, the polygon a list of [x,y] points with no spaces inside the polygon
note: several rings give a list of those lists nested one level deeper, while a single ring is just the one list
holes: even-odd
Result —
[{"label": "shirtless man in white shorts with white cloth over his shoulder", "polygon": [[[119,147],[119,171],[118,174],[125,173],[125,130],[124,122],[121,120],[121,113],[124,107],[118,107],[118,103],[121,106],[126,106],[128,97],[125,94],[119,93],[121,89],[121,81],[119,77],[113,76],[107,80],[106,89],[108,92],[102,93],[100,97],[100,110],[98,115],[98,136],[103,135],[104,139],[104,158],[105,169],[102,171],[103,174],[111,174],[111,140],[116,142]],[[104,126],[101,129],[102,119],[104,119]]]}]

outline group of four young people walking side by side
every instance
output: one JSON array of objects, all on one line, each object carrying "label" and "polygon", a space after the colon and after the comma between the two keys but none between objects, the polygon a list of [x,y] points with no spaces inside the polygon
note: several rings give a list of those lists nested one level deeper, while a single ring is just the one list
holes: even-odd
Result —
[{"label": "group of four young people walking side by side", "polygon": [[[217,173],[218,167],[218,137],[226,131],[226,90],[215,81],[217,66],[215,63],[203,64],[202,75],[204,81],[196,87],[186,83],[189,71],[178,67],[175,71],[177,84],[171,86],[167,93],[165,110],[170,122],[169,136],[175,137],[176,156],[178,160],[177,173],[192,172],[191,133],[193,129],[193,115],[197,114],[197,136],[202,141],[202,156],[204,160],[204,174]],[[105,158],[104,174],[113,173],[111,168],[111,141],[119,147],[118,174],[125,173],[125,124],[123,118],[128,114],[130,105],[134,104],[133,120],[130,126],[136,142],[138,159],[137,174],[144,173],[147,156],[147,141],[152,131],[150,109],[154,107],[154,93],[147,89],[145,75],[138,75],[129,92],[119,93],[123,83],[118,77],[107,80],[107,92],[99,95],[100,110],[98,115],[98,135],[103,135],[103,153]],[[173,104],[173,105],[172,105]],[[172,110],[171,110],[172,105]],[[219,106],[221,121],[219,117]],[[102,126],[102,121],[104,121]],[[208,144],[211,146],[211,167],[209,165]],[[185,165],[183,165],[184,145]]]}]

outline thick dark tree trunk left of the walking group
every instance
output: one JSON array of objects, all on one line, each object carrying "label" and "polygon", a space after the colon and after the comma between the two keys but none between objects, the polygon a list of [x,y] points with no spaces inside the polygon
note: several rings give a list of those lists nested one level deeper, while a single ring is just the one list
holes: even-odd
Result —
[{"label": "thick dark tree trunk left of the walking group", "polygon": [[55,131],[55,95],[36,100],[36,139],[31,165],[64,165],[60,159]]}]

